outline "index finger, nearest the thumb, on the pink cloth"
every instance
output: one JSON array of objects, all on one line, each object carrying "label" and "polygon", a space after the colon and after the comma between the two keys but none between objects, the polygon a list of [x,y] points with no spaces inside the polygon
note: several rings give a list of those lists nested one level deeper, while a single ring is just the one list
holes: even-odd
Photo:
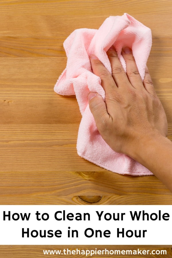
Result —
[{"label": "index finger, nearest the thumb, on the pink cloth", "polygon": [[117,86],[110,72],[107,71],[102,62],[95,55],[91,55],[89,58],[93,73],[100,77],[101,86],[103,87],[105,92],[109,90],[114,90],[114,88],[116,88]]}]

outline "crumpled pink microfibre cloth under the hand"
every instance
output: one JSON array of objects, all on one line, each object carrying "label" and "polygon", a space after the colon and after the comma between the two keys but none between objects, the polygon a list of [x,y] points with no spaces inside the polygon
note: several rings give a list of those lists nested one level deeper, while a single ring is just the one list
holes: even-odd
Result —
[{"label": "crumpled pink microfibre cloth under the hand", "polygon": [[[152,45],[151,30],[127,13],[110,16],[98,30],[77,29],[64,41],[67,66],[60,75],[54,91],[61,95],[76,95],[82,115],[78,131],[77,152],[84,159],[112,172],[129,175],[152,173],[132,158],[116,153],[99,134],[90,112],[87,95],[97,92],[105,99],[100,78],[93,74],[89,56],[95,54],[112,74],[107,50],[114,45],[118,58],[126,72],[126,63],[121,55],[123,46],[132,52],[142,80]],[[144,146],[143,146],[144,148]]]}]

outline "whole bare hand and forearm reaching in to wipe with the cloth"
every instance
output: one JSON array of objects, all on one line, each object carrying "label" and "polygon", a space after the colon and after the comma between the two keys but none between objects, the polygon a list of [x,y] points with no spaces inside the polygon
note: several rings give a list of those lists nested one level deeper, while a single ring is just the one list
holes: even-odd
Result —
[{"label": "whole bare hand and forearm reaching in to wipe with the cloth", "polygon": [[166,138],[165,111],[148,69],[142,81],[131,49],[124,47],[121,54],[126,73],[114,47],[107,51],[112,75],[96,56],[90,56],[93,73],[100,77],[105,91],[105,101],[98,93],[89,93],[91,113],[114,151],[144,165],[172,191],[172,142]]}]

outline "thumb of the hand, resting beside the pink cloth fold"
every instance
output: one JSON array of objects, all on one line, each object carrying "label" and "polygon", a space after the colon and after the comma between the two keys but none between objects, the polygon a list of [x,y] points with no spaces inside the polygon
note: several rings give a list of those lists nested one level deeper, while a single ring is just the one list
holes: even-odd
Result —
[{"label": "thumb of the hand, resting beside the pink cloth fold", "polygon": [[106,104],[98,93],[90,92],[88,94],[89,108],[95,119],[96,125],[101,125],[108,117]]}]

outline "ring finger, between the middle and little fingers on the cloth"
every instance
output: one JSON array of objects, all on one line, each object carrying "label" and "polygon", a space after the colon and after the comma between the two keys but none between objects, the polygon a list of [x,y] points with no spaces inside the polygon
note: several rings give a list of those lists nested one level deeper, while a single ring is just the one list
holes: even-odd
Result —
[{"label": "ring finger, between the middle and little fingers on the cloth", "polygon": [[131,85],[136,89],[143,88],[142,79],[138,72],[138,68],[136,66],[136,62],[134,60],[132,50],[129,47],[124,47],[121,53],[126,62],[126,67],[127,67],[126,74]]}]

